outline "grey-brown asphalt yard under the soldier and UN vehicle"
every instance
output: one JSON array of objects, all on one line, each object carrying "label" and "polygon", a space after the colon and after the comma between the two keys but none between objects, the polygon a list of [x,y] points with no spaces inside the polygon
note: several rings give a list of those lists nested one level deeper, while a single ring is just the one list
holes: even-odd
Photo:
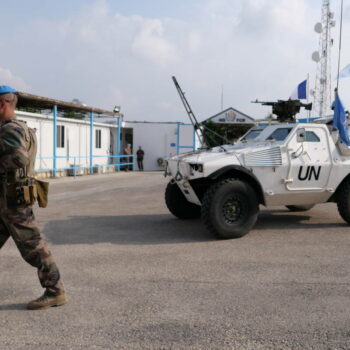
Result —
[{"label": "grey-brown asphalt yard under the soldier and UN vehicle", "polygon": [[53,180],[37,217],[69,304],[27,311],[35,271],[0,252],[0,349],[350,349],[350,230],[334,204],[262,209],[218,241],[169,215],[158,173]]}]

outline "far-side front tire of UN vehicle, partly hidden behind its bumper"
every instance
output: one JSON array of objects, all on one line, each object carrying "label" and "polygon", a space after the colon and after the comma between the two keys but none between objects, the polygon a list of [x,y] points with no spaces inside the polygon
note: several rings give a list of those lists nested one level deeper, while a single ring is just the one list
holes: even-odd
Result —
[{"label": "far-side front tire of UN vehicle, partly hidden behind its bumper", "polygon": [[190,203],[176,183],[168,183],[165,190],[165,203],[169,211],[179,219],[196,219],[201,216],[201,207]]}]

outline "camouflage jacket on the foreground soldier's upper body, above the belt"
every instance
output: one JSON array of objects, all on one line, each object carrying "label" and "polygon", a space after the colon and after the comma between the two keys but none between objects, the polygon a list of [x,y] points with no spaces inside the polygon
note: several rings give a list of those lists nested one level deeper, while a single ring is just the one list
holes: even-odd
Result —
[{"label": "camouflage jacket on the foreground soldier's upper body, above the belt", "polygon": [[36,156],[36,138],[24,122],[15,118],[0,122],[0,174],[8,179],[31,176]]}]

